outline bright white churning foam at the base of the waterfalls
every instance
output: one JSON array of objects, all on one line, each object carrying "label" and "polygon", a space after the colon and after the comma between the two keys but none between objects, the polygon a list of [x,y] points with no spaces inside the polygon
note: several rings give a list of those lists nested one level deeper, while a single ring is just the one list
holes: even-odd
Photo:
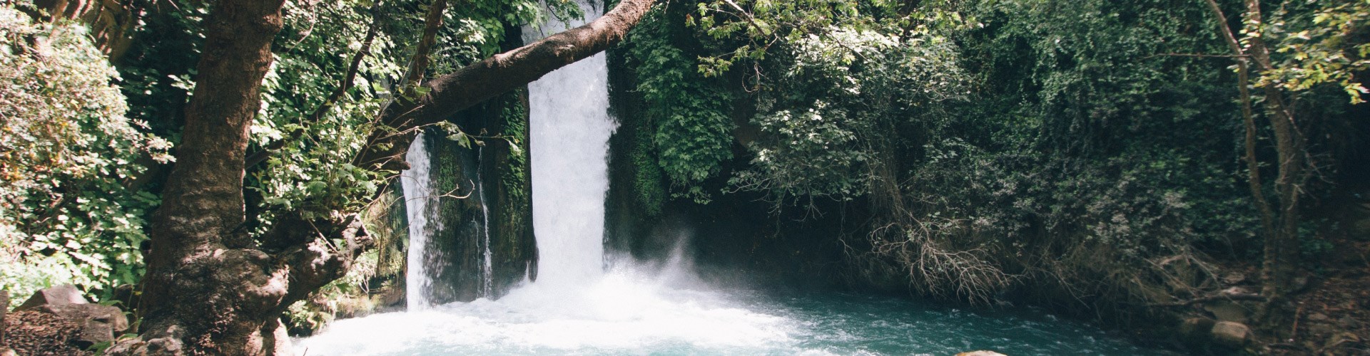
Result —
[{"label": "bright white churning foam at the base of the waterfalls", "polygon": [[786,318],[727,294],[615,270],[575,289],[530,283],[499,300],[338,320],[297,342],[308,355],[640,353],[763,351],[792,344]]}]

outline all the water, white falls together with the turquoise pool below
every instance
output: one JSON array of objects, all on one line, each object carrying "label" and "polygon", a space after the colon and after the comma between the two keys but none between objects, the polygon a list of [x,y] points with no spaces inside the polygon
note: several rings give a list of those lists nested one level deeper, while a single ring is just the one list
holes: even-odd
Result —
[{"label": "all the water, white falls together with the turquoise pool below", "polygon": [[[582,8],[599,14],[589,5]],[[551,31],[560,29],[549,26]],[[964,312],[836,293],[773,298],[715,290],[695,278],[680,248],[663,266],[615,263],[606,271],[606,153],[615,123],[607,115],[604,56],[543,77],[529,85],[529,96],[537,281],[499,300],[423,308],[427,304],[415,290],[429,281],[422,279],[422,263],[415,264],[411,253],[407,312],[334,322],[322,334],[296,342],[299,353],[1154,353],[1040,314]],[[411,240],[416,241],[411,248],[422,246],[429,222],[421,216],[427,211],[426,200],[412,199],[426,196],[423,149],[416,140],[408,156],[414,166],[406,171],[411,175],[406,182],[414,182],[404,186],[411,197]],[[482,274],[489,270],[488,223],[485,234]],[[689,230],[681,229],[681,234]]]}]

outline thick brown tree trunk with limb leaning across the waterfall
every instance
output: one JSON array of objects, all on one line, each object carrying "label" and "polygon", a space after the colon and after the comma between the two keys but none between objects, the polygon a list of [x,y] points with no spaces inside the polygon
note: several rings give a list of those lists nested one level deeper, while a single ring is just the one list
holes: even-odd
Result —
[{"label": "thick brown tree trunk with limb leaning across the waterfall", "polygon": [[[353,162],[377,171],[403,168],[415,127],[607,49],[652,3],[623,0],[585,26],[423,84],[414,90],[422,96],[396,100],[381,114],[386,129],[375,130]],[[141,335],[115,345],[112,355],[279,353],[286,344],[279,314],[341,277],[352,256],[371,246],[356,211],[286,212],[262,234],[242,227],[248,130],[284,4],[223,0],[210,12],[177,166],[149,229]]]}]

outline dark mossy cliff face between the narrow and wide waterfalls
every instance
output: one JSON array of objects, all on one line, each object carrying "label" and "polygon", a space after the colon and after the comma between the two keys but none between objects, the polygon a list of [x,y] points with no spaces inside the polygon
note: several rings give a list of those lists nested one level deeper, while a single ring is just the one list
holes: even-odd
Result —
[{"label": "dark mossy cliff face between the narrow and wide waterfalls", "polygon": [[478,137],[475,145],[448,140],[438,130],[423,136],[430,148],[430,189],[444,194],[430,212],[433,236],[423,256],[434,281],[433,303],[482,297],[486,241],[493,296],[504,294],[533,274],[529,268],[536,266],[537,246],[529,196],[526,105],[525,94],[514,93],[459,114],[453,122]]}]

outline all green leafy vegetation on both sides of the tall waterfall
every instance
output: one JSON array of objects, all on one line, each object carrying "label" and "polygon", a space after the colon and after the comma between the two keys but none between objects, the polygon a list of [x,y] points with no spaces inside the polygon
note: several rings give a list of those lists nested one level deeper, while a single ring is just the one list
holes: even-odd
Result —
[{"label": "all green leafy vegetation on both sides of the tall waterfall", "polygon": [[[138,14],[127,48],[86,30],[107,18],[0,5],[0,289],[75,283],[107,300],[144,272],[211,5],[127,3],[110,10]],[[284,8],[240,152],[241,229],[362,214],[381,245],[296,304],[296,323],[403,268],[403,238],[379,233],[393,199],[377,201],[396,171],[355,160],[377,136],[411,134],[378,122],[388,105],[507,51],[519,26],[581,15],[447,3]],[[658,3],[616,48],[641,105],[619,131],[634,142],[621,183],[652,216],[729,194],[860,216],[812,237],[843,249],[858,288],[1112,318],[1259,267],[1280,311],[1349,229],[1330,211],[1370,189],[1367,21],[1363,0]],[[518,148],[523,126],[507,125],[427,130]]]}]

